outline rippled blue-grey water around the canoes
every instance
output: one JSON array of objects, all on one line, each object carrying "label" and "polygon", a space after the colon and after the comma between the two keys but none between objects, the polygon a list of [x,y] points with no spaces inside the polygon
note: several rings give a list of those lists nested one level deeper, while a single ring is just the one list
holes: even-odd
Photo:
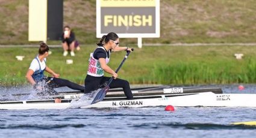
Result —
[{"label": "rippled blue-grey water around the canoes", "polygon": [[[254,93],[256,85],[220,86],[225,93]],[[19,88],[22,89],[22,88]],[[27,89],[27,88],[23,88]],[[2,91],[8,92],[7,89]],[[256,100],[255,100],[256,101]],[[255,137],[256,108],[164,107],[0,110],[0,137]]]}]

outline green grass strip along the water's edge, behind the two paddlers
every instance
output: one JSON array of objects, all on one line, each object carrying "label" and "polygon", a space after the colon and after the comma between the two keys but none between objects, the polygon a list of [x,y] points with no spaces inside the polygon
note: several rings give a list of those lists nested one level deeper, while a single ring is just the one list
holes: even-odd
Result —
[{"label": "green grass strip along the water's edge, behind the two paddlers", "polygon": [[[145,46],[131,53],[119,71],[119,77],[131,84],[207,85],[256,82],[255,46]],[[90,52],[95,46],[82,46],[75,57],[62,56],[61,48],[52,48],[48,67],[61,78],[83,85]],[[26,85],[25,73],[37,55],[36,47],[0,48],[0,86]],[[243,53],[241,60],[234,53]],[[16,55],[23,55],[17,61]],[[110,67],[117,68],[125,52],[111,55]],[[66,59],[74,64],[67,65]],[[46,73],[48,75],[48,73]],[[106,74],[109,76],[108,74]]]}]

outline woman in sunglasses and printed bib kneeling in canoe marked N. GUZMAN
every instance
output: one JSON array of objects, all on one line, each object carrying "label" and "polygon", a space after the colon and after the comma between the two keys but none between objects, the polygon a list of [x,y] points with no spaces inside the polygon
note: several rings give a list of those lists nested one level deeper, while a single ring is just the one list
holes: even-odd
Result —
[{"label": "woman in sunglasses and printed bib kneeling in canoe marked N. GUZMAN", "polygon": [[133,99],[129,82],[123,79],[118,79],[117,73],[107,65],[110,61],[111,52],[119,52],[123,50],[131,52],[131,48],[119,47],[119,37],[114,32],[103,35],[97,45],[98,47],[95,51],[90,54],[87,76],[84,80],[85,92],[89,93],[95,91],[104,85],[105,82],[110,80],[110,77],[104,76],[105,71],[114,77],[113,82],[110,84],[110,88],[123,88],[126,97],[129,100]]}]

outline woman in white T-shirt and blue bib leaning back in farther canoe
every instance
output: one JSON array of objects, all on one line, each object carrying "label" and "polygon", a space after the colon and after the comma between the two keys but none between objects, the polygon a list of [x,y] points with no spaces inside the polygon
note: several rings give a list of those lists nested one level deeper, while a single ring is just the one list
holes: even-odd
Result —
[{"label": "woman in white T-shirt and blue bib leaning back in farther canoe", "polygon": [[[49,94],[55,93],[54,88],[67,86],[71,89],[84,92],[84,86],[70,82],[66,79],[58,78],[60,74],[55,73],[51,68],[46,65],[46,58],[48,57],[49,47],[46,43],[40,43],[39,55],[33,59],[30,68],[27,71],[26,77],[28,82],[33,85],[37,92],[47,91]],[[52,74],[52,77],[46,77],[44,72]],[[45,89],[47,88],[47,89]]]}]

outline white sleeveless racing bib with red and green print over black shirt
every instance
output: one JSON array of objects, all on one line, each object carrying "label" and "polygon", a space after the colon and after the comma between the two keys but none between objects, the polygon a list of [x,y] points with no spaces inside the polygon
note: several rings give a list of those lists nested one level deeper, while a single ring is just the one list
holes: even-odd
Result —
[{"label": "white sleeveless racing bib with red and green print over black shirt", "polygon": [[[105,50],[104,47],[97,47],[97,49],[103,49],[106,52],[106,56],[107,56],[107,51]],[[93,53],[90,53],[87,74],[94,77],[102,77],[104,76],[104,70],[101,68],[101,64],[99,63],[99,60],[93,58]],[[108,62],[110,61],[110,51],[108,53],[109,53],[109,58],[107,56],[107,58],[105,59],[106,64],[108,64]]]}]

